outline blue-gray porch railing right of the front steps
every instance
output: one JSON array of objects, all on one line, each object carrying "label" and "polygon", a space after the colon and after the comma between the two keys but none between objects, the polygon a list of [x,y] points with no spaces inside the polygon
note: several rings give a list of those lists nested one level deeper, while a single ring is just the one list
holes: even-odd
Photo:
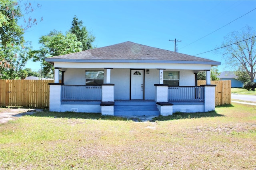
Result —
[{"label": "blue-gray porch railing right of the front steps", "polygon": [[200,87],[200,86],[168,87],[168,101],[203,102],[204,87]]}]

